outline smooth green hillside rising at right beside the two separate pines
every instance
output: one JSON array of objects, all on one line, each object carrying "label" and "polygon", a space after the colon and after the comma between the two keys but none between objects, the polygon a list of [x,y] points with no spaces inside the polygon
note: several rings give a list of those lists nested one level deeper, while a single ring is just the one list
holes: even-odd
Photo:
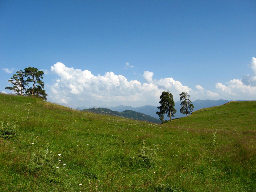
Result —
[{"label": "smooth green hillside rising at right beside the two separate pines", "polygon": [[255,101],[232,101],[224,105],[197,110],[188,118],[174,119],[170,125],[246,131],[255,129],[255,119]]}]

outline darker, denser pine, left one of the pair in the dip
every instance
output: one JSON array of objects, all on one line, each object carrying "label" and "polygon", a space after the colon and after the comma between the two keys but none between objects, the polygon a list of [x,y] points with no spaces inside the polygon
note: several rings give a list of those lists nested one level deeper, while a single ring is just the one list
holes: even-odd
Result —
[{"label": "darker, denser pine, left one of the pair in the dip", "polygon": [[174,100],[173,95],[169,91],[163,91],[162,95],[160,95],[160,101],[161,104],[159,107],[159,111],[156,112],[156,114],[160,117],[159,119],[161,121],[164,120],[164,114],[167,113],[167,116],[170,118],[170,121],[172,121],[172,116],[174,117],[174,114],[177,112],[177,110],[174,108]]}]

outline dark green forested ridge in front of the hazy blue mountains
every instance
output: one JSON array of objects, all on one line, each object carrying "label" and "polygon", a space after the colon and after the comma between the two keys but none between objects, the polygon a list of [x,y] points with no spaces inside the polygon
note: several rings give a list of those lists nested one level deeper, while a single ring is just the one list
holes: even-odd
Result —
[{"label": "dark green forested ridge in front of the hazy blue mountains", "polygon": [[148,121],[152,123],[161,123],[159,119],[156,119],[150,115],[146,115],[143,113],[139,113],[132,110],[124,110],[122,112],[119,111],[113,111],[107,108],[90,108],[90,109],[84,109],[83,111],[88,111],[92,113],[97,114],[106,114],[106,115],[113,115],[113,116],[122,116],[125,118],[135,119],[135,120],[141,120],[141,121]]}]

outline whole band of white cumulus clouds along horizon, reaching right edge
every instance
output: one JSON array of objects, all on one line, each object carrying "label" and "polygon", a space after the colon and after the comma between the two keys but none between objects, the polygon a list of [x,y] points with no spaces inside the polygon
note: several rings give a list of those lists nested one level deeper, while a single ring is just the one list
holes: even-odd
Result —
[{"label": "whole band of white cumulus clouds along horizon, reaching right edge", "polygon": [[89,70],[67,67],[61,62],[51,66],[51,72],[57,75],[50,86],[48,99],[53,102],[74,106],[116,106],[116,105],[159,105],[159,96],[169,90],[175,101],[181,92],[190,94],[196,99],[255,100],[256,86],[252,83],[255,77],[256,59],[253,57],[249,67],[252,69],[251,82],[233,79],[226,83],[217,82],[215,90],[207,90],[197,84],[194,89],[183,85],[172,77],[154,79],[154,73],[144,71],[145,83],[138,80],[128,81],[122,75],[106,72],[104,75],[93,75]]}]

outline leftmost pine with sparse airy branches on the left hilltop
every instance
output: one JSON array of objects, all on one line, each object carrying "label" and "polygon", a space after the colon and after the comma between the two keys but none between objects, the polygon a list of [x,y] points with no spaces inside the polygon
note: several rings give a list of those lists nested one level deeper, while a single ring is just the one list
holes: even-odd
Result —
[{"label": "leftmost pine with sparse airy branches on the left hilltop", "polygon": [[25,81],[25,72],[22,70],[16,71],[13,74],[12,78],[8,80],[8,82],[12,83],[12,87],[5,87],[5,89],[14,91],[17,95],[23,95],[26,90],[25,86],[28,84]]}]

